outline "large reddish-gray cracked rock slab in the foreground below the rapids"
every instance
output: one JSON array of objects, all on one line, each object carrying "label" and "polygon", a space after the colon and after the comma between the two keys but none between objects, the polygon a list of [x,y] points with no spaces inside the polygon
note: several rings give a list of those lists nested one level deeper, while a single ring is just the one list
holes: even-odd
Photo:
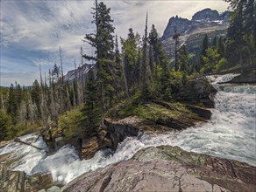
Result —
[{"label": "large reddish-gray cracked rock slab in the foreground below the rapids", "polygon": [[148,147],[130,161],[98,168],[68,183],[69,191],[252,191],[256,168],[238,161]]}]

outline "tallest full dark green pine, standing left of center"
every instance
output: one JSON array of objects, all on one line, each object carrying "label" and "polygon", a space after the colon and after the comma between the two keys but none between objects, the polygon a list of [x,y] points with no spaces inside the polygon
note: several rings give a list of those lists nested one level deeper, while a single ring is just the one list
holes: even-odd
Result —
[{"label": "tallest full dark green pine, standing left of center", "polygon": [[95,1],[95,8],[93,8],[93,24],[96,24],[96,32],[94,34],[87,34],[85,39],[96,48],[96,57],[84,55],[86,59],[96,60],[96,79],[99,91],[99,98],[101,102],[102,124],[103,115],[110,106],[110,101],[113,97],[113,78],[110,68],[113,67],[113,33],[115,28],[110,17],[110,8],[101,2]]}]

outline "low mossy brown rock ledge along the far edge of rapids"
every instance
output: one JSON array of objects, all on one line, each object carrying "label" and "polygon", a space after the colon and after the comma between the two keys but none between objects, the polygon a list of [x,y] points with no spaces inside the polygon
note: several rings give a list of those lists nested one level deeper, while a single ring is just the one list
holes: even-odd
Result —
[{"label": "low mossy brown rock ledge along the far edge of rapids", "polygon": [[[116,149],[118,143],[126,137],[139,134],[166,134],[193,127],[196,123],[210,120],[210,110],[199,107],[181,105],[178,108],[170,103],[153,101],[145,104],[146,110],[158,113],[156,117],[130,116],[124,119],[107,118],[105,127],[99,131],[99,148]],[[148,109],[147,109],[148,108]]]}]

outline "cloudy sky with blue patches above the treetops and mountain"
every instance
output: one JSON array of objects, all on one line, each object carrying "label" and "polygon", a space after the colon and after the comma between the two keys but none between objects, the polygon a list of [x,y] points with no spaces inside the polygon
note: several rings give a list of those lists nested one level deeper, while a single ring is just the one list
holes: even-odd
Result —
[{"label": "cloudy sky with blue patches above the treetops and mountain", "polygon": [[[81,62],[81,46],[84,52],[92,52],[82,38],[94,31],[93,1],[0,0],[0,3],[1,86],[10,86],[15,81],[32,85],[34,79],[39,79],[39,65],[43,73],[54,63],[60,65],[60,46],[64,73],[74,69],[74,59],[77,64]],[[123,38],[131,26],[143,33],[146,11],[149,26],[155,24],[161,36],[170,17],[191,19],[204,8],[219,12],[228,8],[222,0],[104,0],[103,3],[111,8],[116,33]]]}]

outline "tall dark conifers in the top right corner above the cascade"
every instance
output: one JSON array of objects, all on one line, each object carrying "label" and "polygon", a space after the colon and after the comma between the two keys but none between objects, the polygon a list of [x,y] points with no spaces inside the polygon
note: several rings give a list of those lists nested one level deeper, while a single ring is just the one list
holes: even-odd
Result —
[{"label": "tall dark conifers in the top right corner above the cascade", "polygon": [[256,59],[256,3],[253,0],[225,0],[231,4],[231,24],[227,32],[226,57],[231,65],[253,64]]}]

